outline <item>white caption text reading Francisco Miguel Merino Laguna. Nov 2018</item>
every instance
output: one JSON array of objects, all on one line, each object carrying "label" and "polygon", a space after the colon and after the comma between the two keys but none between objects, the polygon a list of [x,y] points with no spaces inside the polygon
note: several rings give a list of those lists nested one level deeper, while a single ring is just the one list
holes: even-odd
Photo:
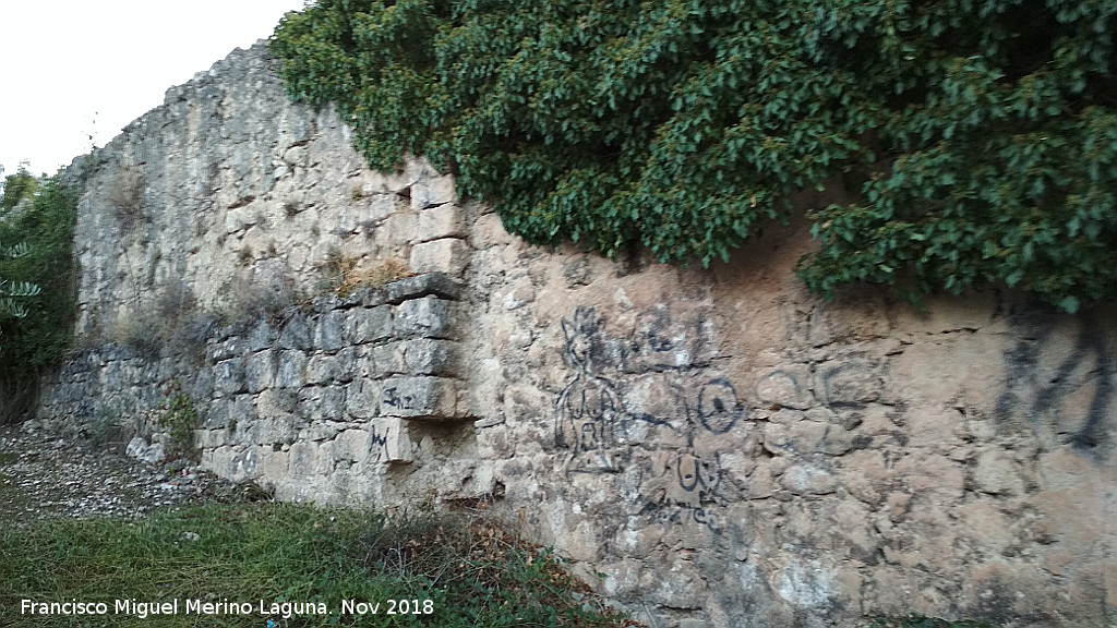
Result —
[{"label": "white caption text reading Francisco Miguel Merino Laguna. Nov 2018", "polygon": [[[290,618],[295,615],[330,615],[325,602],[206,602],[202,600],[171,600],[165,602],[139,602],[135,599],[109,602],[37,602],[20,600],[20,615],[132,615],[140,619],[149,615],[267,615]],[[342,615],[431,615],[432,600],[384,600],[383,602],[359,602],[342,600]]]}]

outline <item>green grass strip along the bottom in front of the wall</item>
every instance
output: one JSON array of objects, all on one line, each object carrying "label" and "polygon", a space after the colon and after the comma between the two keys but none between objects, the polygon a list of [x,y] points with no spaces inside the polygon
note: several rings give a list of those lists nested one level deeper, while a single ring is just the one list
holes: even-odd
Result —
[{"label": "green grass strip along the bottom in front of the wall", "polygon": [[[265,628],[269,619],[288,628],[624,624],[586,605],[592,596],[572,596],[576,583],[546,550],[485,520],[420,514],[389,522],[366,512],[270,503],[201,506],[133,522],[3,526],[0,583],[6,626]],[[108,612],[21,615],[25,599],[104,602]],[[118,599],[178,600],[178,615],[115,615]],[[342,615],[342,600],[350,599],[380,602],[379,613]],[[187,600],[248,602],[251,612],[187,613]],[[389,600],[418,600],[420,612],[386,615]],[[330,613],[283,618],[267,612],[273,602],[325,603]]]}]

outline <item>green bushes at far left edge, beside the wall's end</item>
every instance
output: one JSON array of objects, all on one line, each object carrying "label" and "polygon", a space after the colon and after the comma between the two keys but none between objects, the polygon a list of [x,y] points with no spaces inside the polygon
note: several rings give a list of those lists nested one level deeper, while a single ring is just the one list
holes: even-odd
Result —
[{"label": "green bushes at far left edge, beside the wall's end", "polygon": [[[0,258],[0,285],[22,289],[16,310],[0,308],[0,422],[32,398],[40,370],[61,356],[73,335],[76,307],[73,232],[78,192],[55,177],[26,171],[6,180],[0,242],[19,242],[19,255]],[[15,184],[13,184],[15,183]],[[23,199],[22,210],[7,211]]]}]

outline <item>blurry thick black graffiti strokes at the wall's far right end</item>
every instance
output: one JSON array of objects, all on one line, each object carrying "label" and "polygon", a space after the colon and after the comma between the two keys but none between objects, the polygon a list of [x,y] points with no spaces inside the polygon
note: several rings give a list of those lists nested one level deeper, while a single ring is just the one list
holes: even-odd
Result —
[{"label": "blurry thick black graffiti strokes at the wall's far right end", "polygon": [[1117,346],[1089,315],[1061,323],[1040,312],[1018,320],[1028,333],[1004,355],[1008,382],[996,416],[1022,416],[1041,434],[1092,450],[1117,417]]}]

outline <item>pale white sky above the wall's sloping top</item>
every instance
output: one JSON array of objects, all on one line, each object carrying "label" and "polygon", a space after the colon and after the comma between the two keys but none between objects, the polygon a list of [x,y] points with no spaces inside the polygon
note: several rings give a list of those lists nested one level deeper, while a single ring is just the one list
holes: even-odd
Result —
[{"label": "pale white sky above the wall's sloping top", "polygon": [[54,174],[303,0],[0,0],[0,165]]}]

